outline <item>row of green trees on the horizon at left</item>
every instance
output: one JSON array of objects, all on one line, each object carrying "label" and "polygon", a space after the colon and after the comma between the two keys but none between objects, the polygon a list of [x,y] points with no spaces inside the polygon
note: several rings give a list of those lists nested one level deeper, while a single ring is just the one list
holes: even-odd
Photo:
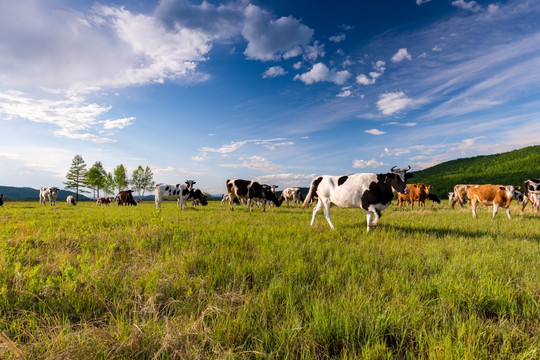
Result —
[{"label": "row of green trees on the horizon at left", "polygon": [[112,173],[105,171],[101,161],[96,161],[90,169],[87,169],[87,164],[81,155],[75,155],[73,158],[66,178],[64,185],[66,189],[74,190],[76,201],[79,201],[79,193],[93,191],[94,198],[99,198],[100,191],[105,195],[114,194],[117,191],[126,190],[128,186],[136,191],[140,198],[146,191],[154,190],[155,186],[154,174],[149,166],[143,168],[139,165],[130,179],[127,169],[122,164],[118,165]]}]

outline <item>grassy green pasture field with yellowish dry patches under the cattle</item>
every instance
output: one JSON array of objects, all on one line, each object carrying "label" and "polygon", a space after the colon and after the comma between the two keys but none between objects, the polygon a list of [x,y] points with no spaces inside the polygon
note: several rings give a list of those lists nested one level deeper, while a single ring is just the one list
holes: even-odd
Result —
[{"label": "grassy green pasture field with yellowish dry patches under the cattle", "polygon": [[540,215],[0,208],[2,359],[539,359]]}]

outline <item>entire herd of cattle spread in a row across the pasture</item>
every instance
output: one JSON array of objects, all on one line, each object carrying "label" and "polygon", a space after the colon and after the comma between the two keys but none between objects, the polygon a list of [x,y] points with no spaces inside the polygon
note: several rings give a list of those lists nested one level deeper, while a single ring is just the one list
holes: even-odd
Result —
[{"label": "entire herd of cattle spread in a row across the pasture", "polygon": [[[245,203],[250,211],[253,205],[262,205],[266,210],[266,203],[269,206],[274,204],[279,207],[283,202],[289,206],[292,201],[293,206],[302,204],[302,208],[309,206],[312,201],[317,200],[313,208],[311,225],[313,226],[317,214],[323,210],[324,217],[328,225],[334,229],[334,224],[330,219],[330,206],[348,208],[362,208],[367,211],[367,231],[379,224],[381,211],[390,206],[394,194],[398,194],[397,203],[404,206],[410,203],[411,208],[418,202],[419,207],[425,206],[426,200],[440,203],[436,195],[431,194],[432,186],[423,183],[407,184],[406,179],[412,177],[407,173],[411,167],[396,169],[392,167],[387,174],[359,173],[343,176],[322,175],[315,177],[310,184],[309,192],[304,199],[299,188],[288,188],[281,192],[277,198],[275,189],[277,185],[260,184],[257,181],[243,179],[228,179],[226,181],[227,193],[222,196],[221,203],[229,203],[230,210],[234,210],[234,204]],[[207,205],[208,199],[200,189],[194,188],[195,181],[187,180],[183,184],[169,185],[158,184],[155,187],[156,209],[161,208],[164,199],[176,200],[177,206],[184,209],[188,201],[192,205]],[[521,191],[519,191],[521,190]],[[39,192],[39,203],[50,205],[56,204],[56,197],[59,188],[55,186],[42,187]],[[454,191],[448,193],[449,202],[454,208],[456,203],[461,207],[467,201],[471,204],[472,215],[477,217],[476,209],[478,204],[492,205],[493,216],[497,214],[499,207],[503,207],[509,219],[510,202],[516,199],[522,201],[521,211],[525,210],[528,203],[531,203],[533,210],[540,213],[540,179],[526,180],[523,186],[513,185],[476,185],[458,184],[454,186]],[[76,205],[73,196],[66,199],[68,205]],[[4,197],[0,194],[0,206],[4,203]],[[137,205],[133,198],[132,190],[120,191],[115,197],[100,197],[97,205]]]}]

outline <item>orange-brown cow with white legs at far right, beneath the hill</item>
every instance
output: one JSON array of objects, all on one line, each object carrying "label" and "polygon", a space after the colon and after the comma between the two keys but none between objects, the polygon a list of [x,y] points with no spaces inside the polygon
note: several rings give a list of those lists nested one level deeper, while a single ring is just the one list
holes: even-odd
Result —
[{"label": "orange-brown cow with white legs at far right, beneath the hill", "polygon": [[478,204],[493,205],[492,219],[497,215],[499,207],[502,206],[506,210],[506,216],[511,219],[510,215],[510,201],[516,197],[516,189],[512,185],[471,185],[467,191],[467,196],[471,201],[472,215],[476,216],[476,207]]}]

